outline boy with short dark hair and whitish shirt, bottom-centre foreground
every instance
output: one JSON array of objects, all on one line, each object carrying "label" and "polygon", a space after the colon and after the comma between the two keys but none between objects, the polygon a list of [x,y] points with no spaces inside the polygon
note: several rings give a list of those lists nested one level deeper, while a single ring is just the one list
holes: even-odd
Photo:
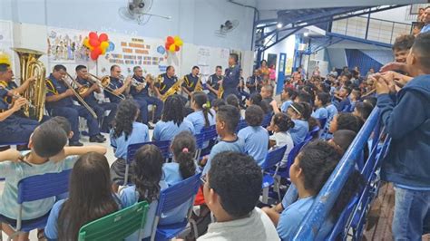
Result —
[{"label": "boy with short dark hair and whitish shirt, bottom-centre foreground", "polygon": [[197,240],[279,240],[269,217],[255,207],[262,174],[254,159],[221,152],[201,179],[206,203],[217,221]]}]

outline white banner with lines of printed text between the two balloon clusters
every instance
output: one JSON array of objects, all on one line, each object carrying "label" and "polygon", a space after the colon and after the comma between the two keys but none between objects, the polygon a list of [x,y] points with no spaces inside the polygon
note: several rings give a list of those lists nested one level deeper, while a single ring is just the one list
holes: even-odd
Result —
[{"label": "white banner with lines of printed text between the two balloon clusters", "polygon": [[152,75],[165,72],[169,65],[173,65],[178,72],[182,50],[176,53],[166,52],[161,39],[109,34],[109,41],[114,44],[115,48],[112,52],[99,57],[97,63],[99,74],[109,74],[113,64],[122,68],[124,76],[132,75],[134,66],[141,66],[143,72]]}]

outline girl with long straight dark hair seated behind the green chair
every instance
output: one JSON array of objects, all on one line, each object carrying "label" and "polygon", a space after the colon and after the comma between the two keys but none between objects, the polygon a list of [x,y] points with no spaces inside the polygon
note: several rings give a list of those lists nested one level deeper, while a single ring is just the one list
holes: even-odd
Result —
[{"label": "girl with long straight dark hair seated behind the green chair", "polygon": [[73,166],[69,197],[54,204],[44,236],[49,240],[77,240],[83,225],[121,209],[112,192],[109,163],[103,154],[90,152]]}]

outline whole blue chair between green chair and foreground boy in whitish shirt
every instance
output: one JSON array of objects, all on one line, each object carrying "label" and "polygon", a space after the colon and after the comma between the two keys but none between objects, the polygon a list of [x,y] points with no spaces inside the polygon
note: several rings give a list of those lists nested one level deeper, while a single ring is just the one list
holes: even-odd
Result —
[{"label": "whole blue chair between green chair and foreground boy in whitish shirt", "polygon": [[[200,188],[200,173],[181,182],[161,190],[160,199],[157,210],[155,212],[154,224],[151,232],[151,240],[169,240],[177,236],[185,229],[191,217],[194,198]],[[184,217],[181,222],[171,225],[160,225],[161,214],[168,213],[175,207],[180,207],[182,204],[190,203],[187,217]],[[195,229],[197,230],[197,229]],[[196,236],[197,238],[197,236]]]}]

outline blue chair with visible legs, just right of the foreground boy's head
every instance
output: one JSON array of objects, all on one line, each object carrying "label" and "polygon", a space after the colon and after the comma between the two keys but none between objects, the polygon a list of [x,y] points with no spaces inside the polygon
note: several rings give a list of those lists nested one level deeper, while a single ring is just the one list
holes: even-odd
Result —
[{"label": "blue chair with visible legs, just right of the foreground boy's head", "polygon": [[[261,164],[261,169],[263,170],[263,183],[261,188],[263,189],[262,202],[268,203],[269,199],[269,188],[275,184],[275,176],[278,175],[279,163],[284,158],[285,151],[287,150],[287,145],[280,147],[279,149],[274,149],[266,154],[266,158]],[[278,165],[278,167],[276,167]],[[276,167],[273,173],[269,172],[269,169]],[[278,198],[280,200],[279,185],[277,185]]]}]

